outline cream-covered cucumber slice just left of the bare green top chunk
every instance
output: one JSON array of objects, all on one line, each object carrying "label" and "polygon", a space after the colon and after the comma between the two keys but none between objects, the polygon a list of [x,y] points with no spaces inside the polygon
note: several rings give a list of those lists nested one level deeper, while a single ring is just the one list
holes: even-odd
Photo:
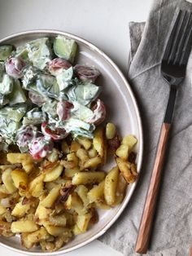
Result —
[{"label": "cream-covered cucumber slice just left of the bare green top chunk", "polygon": [[51,60],[49,38],[39,38],[26,44],[28,59],[33,66],[39,69],[46,68],[46,64]]}]

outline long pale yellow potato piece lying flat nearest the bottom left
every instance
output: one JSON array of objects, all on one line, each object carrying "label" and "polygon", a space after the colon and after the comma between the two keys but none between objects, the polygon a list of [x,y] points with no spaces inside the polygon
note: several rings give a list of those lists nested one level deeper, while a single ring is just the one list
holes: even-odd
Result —
[{"label": "long pale yellow potato piece lying flat nearest the bottom left", "polygon": [[34,232],[37,231],[39,227],[33,220],[17,220],[11,223],[11,232],[21,233],[21,232]]}]

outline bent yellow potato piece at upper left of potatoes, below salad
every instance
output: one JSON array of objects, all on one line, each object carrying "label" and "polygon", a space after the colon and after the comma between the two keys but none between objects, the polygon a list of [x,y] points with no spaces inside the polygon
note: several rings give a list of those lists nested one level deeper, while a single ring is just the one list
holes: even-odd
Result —
[{"label": "bent yellow potato piece at upper left of potatoes, below salad", "polygon": [[22,164],[24,170],[28,174],[33,170],[33,157],[28,153],[8,153],[7,161],[11,164]]}]

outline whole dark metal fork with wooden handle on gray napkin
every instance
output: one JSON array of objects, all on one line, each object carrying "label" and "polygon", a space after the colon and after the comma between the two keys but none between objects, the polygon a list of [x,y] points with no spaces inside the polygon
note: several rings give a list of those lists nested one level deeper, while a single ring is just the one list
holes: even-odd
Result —
[{"label": "whole dark metal fork with wooden handle on gray napkin", "polygon": [[172,114],[177,96],[177,88],[185,78],[192,43],[192,14],[179,11],[175,24],[168,39],[161,63],[161,74],[170,86],[168,106],[159,134],[156,148],[155,164],[151,174],[146,203],[142,213],[135,251],[146,254],[151,235],[151,226],[155,214],[155,204],[159,192],[160,179],[164,166],[164,157],[168,143],[168,135],[172,123]]}]

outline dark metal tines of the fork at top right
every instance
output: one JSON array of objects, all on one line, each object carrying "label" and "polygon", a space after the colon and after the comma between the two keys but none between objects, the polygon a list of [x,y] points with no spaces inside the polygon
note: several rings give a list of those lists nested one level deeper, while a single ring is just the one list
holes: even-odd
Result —
[{"label": "dark metal tines of the fork at top right", "polygon": [[180,10],[168,39],[163,61],[167,64],[185,65],[189,59],[191,43],[192,13]]}]

